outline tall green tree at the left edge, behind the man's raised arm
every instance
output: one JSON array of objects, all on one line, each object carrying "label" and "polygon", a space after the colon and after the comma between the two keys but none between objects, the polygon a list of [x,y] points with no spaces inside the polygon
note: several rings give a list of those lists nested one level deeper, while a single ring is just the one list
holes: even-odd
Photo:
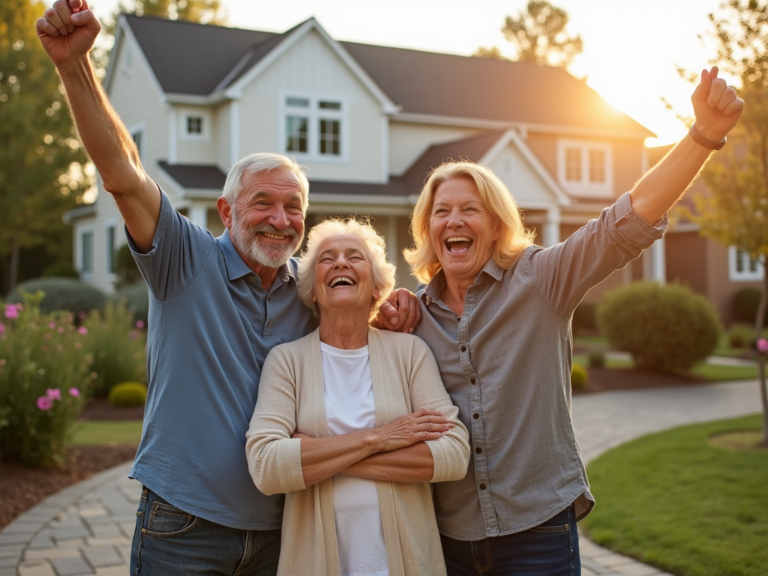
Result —
[{"label": "tall green tree at the left edge, behind the man's raised arm", "polygon": [[88,185],[59,76],[35,36],[44,10],[37,0],[0,2],[0,261],[7,290],[16,285],[22,250],[55,250],[71,234],[62,213]]}]

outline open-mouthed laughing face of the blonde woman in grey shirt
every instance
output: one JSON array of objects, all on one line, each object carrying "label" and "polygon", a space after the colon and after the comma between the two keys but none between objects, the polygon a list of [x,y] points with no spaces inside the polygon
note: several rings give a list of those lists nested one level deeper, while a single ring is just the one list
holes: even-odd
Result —
[{"label": "open-mouthed laughing face of the blonde woman in grey shirt", "polygon": [[496,217],[469,178],[451,178],[437,187],[429,238],[449,281],[472,283],[491,257],[499,236]]}]

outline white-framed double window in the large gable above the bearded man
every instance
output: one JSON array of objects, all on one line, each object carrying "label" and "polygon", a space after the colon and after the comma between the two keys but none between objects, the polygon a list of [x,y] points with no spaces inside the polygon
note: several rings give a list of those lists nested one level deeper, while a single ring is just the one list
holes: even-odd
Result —
[{"label": "white-framed double window in the large gable above the bearded man", "polygon": [[340,99],[287,96],[283,100],[283,150],[305,159],[342,158],[345,106]]}]

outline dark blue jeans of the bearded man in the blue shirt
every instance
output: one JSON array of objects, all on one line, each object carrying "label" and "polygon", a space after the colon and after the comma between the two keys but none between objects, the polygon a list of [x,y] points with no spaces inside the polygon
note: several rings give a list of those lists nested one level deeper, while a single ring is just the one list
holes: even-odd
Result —
[{"label": "dark blue jeans of the bearded man in the blue shirt", "polygon": [[280,530],[237,530],[192,516],[144,488],[131,576],[274,576]]}]

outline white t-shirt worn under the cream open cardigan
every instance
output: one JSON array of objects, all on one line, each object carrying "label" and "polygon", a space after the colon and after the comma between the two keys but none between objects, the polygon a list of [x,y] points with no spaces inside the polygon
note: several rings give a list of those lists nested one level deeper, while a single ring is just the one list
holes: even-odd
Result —
[{"label": "white t-shirt worn under the cream open cardigan", "polygon": [[[368,347],[341,350],[320,343],[325,414],[332,436],[376,427]],[[333,510],[342,576],[388,576],[376,483],[333,477]]]}]

